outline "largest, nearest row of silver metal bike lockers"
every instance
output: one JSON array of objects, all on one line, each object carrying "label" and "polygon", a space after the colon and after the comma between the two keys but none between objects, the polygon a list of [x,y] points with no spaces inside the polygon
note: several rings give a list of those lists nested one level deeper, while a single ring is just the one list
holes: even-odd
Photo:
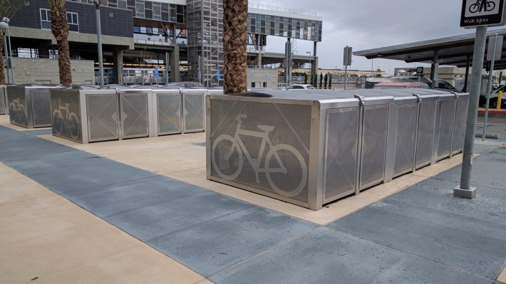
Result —
[{"label": "largest, nearest row of silver metal bike lockers", "polygon": [[309,209],[463,149],[467,93],[207,96],[207,178]]}]

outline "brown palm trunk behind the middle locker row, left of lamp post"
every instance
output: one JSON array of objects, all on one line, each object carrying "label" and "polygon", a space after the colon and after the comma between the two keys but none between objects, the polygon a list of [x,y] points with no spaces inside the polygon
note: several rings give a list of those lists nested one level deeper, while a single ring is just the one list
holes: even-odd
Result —
[{"label": "brown palm trunk behind the middle locker row, left of lamp post", "polygon": [[68,22],[65,0],[48,0],[51,9],[51,32],[58,45],[60,83],[72,85],[71,53],[68,51]]}]

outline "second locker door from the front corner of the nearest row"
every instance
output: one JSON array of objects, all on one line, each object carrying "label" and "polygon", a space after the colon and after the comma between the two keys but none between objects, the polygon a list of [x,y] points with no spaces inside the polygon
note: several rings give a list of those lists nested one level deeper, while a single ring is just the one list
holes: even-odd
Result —
[{"label": "second locker door from the front corner of the nearest row", "polygon": [[385,179],[388,112],[393,97],[365,98],[361,101],[361,130],[359,134],[359,164],[356,193]]}]

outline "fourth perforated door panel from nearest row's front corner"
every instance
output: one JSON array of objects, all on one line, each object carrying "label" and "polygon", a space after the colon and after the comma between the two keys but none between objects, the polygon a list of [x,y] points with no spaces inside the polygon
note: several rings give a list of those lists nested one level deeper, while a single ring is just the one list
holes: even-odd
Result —
[{"label": "fourth perforated door panel from nearest row's front corner", "polygon": [[416,169],[430,164],[433,152],[436,102],[421,102],[416,146]]}]

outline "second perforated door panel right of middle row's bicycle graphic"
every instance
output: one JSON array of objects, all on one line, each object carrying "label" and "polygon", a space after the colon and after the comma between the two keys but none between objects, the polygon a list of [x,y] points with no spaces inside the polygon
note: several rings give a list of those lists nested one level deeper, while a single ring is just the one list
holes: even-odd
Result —
[{"label": "second perforated door panel right of middle row's bicycle graphic", "polygon": [[121,131],[123,138],[147,137],[148,95],[146,93],[121,93]]}]

